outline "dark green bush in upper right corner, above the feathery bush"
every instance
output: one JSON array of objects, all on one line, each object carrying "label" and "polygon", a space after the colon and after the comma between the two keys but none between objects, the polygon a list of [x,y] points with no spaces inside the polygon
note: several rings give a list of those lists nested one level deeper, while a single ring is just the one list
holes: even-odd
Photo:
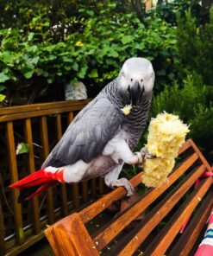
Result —
[{"label": "dark green bush in upper right corner, above the feathery bush", "polygon": [[179,71],[183,76],[196,72],[204,84],[213,86],[213,8],[210,22],[197,26],[197,19],[186,12],[185,20],[178,16],[177,47],[179,50]]}]

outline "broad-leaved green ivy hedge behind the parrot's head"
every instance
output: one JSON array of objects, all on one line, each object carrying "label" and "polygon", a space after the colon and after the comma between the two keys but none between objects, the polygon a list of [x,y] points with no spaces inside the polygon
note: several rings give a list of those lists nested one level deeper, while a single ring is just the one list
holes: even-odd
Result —
[{"label": "broad-leaved green ivy hedge behind the parrot's head", "polygon": [[101,88],[116,77],[123,61],[143,56],[153,61],[160,91],[177,75],[174,29],[159,18],[147,18],[145,28],[135,13],[115,9],[116,3],[110,3],[96,15],[81,7],[79,15],[87,13],[86,18],[79,16],[81,30],[65,33],[63,42],[53,42],[53,28],[49,29],[45,14],[34,16],[27,31],[0,30],[0,85],[9,92],[25,88],[27,97],[32,88],[44,93],[47,84],[76,80]]}]

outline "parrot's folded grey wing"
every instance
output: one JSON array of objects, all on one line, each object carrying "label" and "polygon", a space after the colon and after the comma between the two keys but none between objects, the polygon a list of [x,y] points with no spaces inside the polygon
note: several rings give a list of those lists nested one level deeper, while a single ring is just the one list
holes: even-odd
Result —
[{"label": "parrot's folded grey wing", "polygon": [[121,124],[122,114],[109,99],[94,99],[69,125],[42,167],[59,167],[78,160],[91,162],[102,153]]}]

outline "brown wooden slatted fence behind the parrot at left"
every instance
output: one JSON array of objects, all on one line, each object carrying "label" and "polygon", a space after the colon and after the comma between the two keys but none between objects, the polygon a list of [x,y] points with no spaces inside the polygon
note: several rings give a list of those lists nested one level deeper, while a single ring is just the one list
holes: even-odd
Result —
[{"label": "brown wooden slatted fence behind the parrot at left", "polygon": [[[22,205],[12,182],[39,170],[72,118],[89,102],[75,100],[0,109],[0,254],[16,255],[41,240],[43,229],[103,193],[103,179],[60,184]],[[29,152],[16,155],[18,143]]]}]

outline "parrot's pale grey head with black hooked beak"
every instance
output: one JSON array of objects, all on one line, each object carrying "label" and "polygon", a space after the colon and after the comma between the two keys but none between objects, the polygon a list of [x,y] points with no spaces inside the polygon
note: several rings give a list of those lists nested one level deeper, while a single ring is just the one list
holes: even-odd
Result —
[{"label": "parrot's pale grey head with black hooked beak", "polygon": [[128,94],[131,106],[137,106],[146,94],[153,91],[153,65],[144,58],[130,58],[124,62],[118,79],[119,89]]}]

